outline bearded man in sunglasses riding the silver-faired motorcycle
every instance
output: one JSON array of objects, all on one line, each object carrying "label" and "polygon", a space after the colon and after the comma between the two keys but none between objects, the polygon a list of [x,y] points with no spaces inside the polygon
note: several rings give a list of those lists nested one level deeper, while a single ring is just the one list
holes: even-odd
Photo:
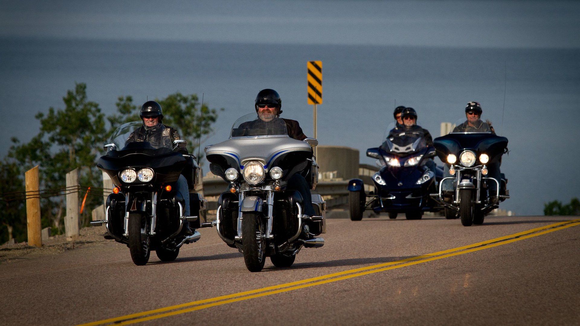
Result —
[{"label": "bearded man in sunglasses riding the silver-faired motorcycle", "polygon": [[[279,118],[282,114],[282,100],[278,92],[273,89],[262,89],[256,96],[255,100],[256,113],[262,121],[271,121],[274,118]],[[305,140],[307,137],[302,132],[302,128],[298,124],[298,121],[291,119],[284,119],[286,123],[286,128],[288,130],[288,136],[297,140]],[[302,195],[302,200],[304,204],[304,214],[308,216],[314,216],[314,208],[312,207],[312,197],[310,194],[310,186],[306,182],[306,179],[300,175],[300,173],[295,173],[288,179],[286,186],[287,190],[296,190]]]}]

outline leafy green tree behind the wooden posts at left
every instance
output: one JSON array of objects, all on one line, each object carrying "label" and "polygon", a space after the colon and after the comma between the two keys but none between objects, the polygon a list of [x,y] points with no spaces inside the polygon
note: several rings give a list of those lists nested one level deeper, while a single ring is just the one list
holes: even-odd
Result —
[{"label": "leafy green tree behind the wooden posts at left", "polygon": [[[27,144],[13,139],[9,157],[14,158],[24,171],[39,165],[41,189],[63,189],[66,173],[79,168],[79,183],[82,186],[101,184],[95,159],[100,154],[100,146],[106,136],[105,118],[99,104],[90,102],[86,97],[86,84],[75,84],[63,97],[64,108],[50,107],[48,113],[38,113],[35,118],[41,128],[37,136]],[[81,189],[84,195],[85,189]],[[54,191],[50,194],[62,194]],[[91,208],[99,204],[102,197],[90,196],[82,219],[90,220]],[[64,196],[43,198],[41,213],[43,227],[52,226],[61,231],[64,217]]]}]

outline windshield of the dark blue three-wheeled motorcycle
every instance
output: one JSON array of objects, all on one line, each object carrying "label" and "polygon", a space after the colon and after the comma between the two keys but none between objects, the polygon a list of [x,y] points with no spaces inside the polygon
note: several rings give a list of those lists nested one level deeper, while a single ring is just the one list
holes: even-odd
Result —
[{"label": "windshield of the dark blue three-wheeled motorcycle", "polygon": [[387,126],[380,146],[387,153],[407,155],[427,147],[425,133],[420,126],[409,128],[398,126],[394,122]]}]

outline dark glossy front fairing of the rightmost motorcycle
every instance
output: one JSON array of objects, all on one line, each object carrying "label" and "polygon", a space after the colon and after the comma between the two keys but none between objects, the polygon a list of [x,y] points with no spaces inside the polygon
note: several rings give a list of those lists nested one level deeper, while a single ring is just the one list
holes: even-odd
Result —
[{"label": "dark glossy front fairing of the rightmost motorcycle", "polygon": [[449,133],[433,140],[437,155],[447,162],[447,155],[458,155],[462,150],[473,150],[477,157],[485,153],[490,162],[497,162],[507,148],[507,138],[492,133]]}]

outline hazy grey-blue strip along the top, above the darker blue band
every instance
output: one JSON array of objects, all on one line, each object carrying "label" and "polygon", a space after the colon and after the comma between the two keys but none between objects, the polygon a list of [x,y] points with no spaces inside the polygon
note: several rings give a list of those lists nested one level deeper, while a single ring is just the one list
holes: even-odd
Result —
[{"label": "hazy grey-blue strip along the top, above the darker blue band", "polygon": [[577,1],[0,1],[0,37],[578,48]]}]

